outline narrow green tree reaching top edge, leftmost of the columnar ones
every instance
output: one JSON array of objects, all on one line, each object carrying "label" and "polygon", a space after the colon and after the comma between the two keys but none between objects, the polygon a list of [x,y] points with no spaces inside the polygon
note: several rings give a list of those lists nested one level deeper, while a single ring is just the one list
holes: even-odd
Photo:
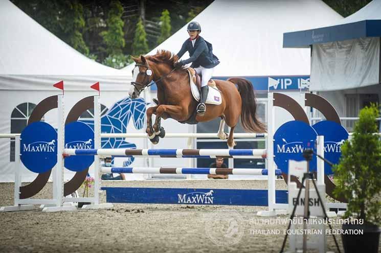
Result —
[{"label": "narrow green tree reaching top edge, leftmost of the columnar ones", "polygon": [[109,55],[121,54],[125,45],[122,14],[123,7],[121,3],[118,0],[111,1],[106,19],[108,30],[100,33],[107,47],[106,52]]}]

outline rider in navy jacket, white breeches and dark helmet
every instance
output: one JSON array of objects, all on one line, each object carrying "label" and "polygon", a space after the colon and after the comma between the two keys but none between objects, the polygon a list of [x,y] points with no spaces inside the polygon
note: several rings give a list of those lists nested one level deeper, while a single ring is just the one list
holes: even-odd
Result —
[{"label": "rider in navy jacket, white breeches and dark helmet", "polygon": [[212,78],[214,67],[219,64],[219,61],[213,55],[212,44],[199,36],[201,26],[198,22],[190,22],[187,30],[190,38],[183,43],[177,56],[180,59],[188,51],[190,58],[175,62],[174,67],[181,68],[183,65],[192,62],[191,67],[194,68],[198,75],[202,76],[200,103],[197,105],[197,113],[204,114],[206,111],[205,102],[209,92],[208,81]]}]

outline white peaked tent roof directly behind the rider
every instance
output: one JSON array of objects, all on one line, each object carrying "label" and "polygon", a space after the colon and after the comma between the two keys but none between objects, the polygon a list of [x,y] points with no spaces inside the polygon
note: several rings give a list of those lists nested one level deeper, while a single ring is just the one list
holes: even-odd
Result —
[{"label": "white peaked tent roof directly behind the rider", "polygon": [[[283,49],[283,33],[341,19],[320,0],[216,0],[193,21],[200,23],[200,35],[213,44],[213,53],[220,59],[214,76],[223,77],[309,75],[310,50]],[[158,49],[176,54],[187,37],[184,26],[148,55]]]}]

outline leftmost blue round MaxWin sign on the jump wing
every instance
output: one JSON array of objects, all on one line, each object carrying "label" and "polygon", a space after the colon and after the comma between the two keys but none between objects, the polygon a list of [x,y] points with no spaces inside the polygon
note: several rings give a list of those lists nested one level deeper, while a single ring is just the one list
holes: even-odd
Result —
[{"label": "leftmost blue round MaxWin sign on the jump wing", "polygon": [[28,125],[20,136],[21,162],[35,173],[51,170],[57,163],[57,132],[48,123]]}]

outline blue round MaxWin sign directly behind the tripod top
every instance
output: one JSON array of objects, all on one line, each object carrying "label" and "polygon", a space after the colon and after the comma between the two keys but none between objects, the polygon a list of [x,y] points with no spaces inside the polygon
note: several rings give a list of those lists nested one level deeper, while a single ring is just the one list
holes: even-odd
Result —
[{"label": "blue round MaxWin sign directly behind the tripod top", "polygon": [[[274,161],[278,169],[287,174],[288,160],[305,160],[303,150],[314,144],[316,137],[316,131],[302,121],[289,121],[281,125],[274,134]],[[316,171],[316,156],[312,157],[309,170]]]}]

